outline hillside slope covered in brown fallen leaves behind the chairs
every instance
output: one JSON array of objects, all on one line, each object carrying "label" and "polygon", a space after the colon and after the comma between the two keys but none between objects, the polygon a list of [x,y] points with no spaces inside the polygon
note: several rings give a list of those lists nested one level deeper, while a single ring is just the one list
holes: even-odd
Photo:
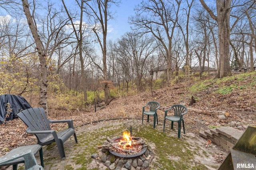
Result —
[{"label": "hillside slope covered in brown fallen leaves behind the chairs", "polygon": [[[193,104],[192,96],[195,99]],[[243,130],[248,125],[256,126],[256,72],[216,80],[190,81],[155,90],[153,94],[143,92],[133,96],[120,96],[96,112],[93,106],[86,111],[50,109],[49,118],[73,119],[76,128],[85,123],[106,119],[141,119],[142,106],[153,100],[161,105],[158,111],[160,125],[164,121],[164,110],[181,103],[189,108],[185,115],[186,131],[198,135],[200,131],[218,126],[232,126]],[[152,122],[152,118],[150,121]],[[61,126],[65,125],[53,128],[58,130]],[[0,140],[0,156],[15,147],[36,143],[36,138],[26,133],[26,126],[20,119],[0,126]]]}]

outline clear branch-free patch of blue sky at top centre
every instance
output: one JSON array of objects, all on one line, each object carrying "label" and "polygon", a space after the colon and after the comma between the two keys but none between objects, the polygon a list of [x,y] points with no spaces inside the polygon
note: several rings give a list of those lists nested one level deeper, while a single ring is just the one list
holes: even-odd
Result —
[{"label": "clear branch-free patch of blue sky at top centre", "polygon": [[134,6],[140,4],[141,0],[122,0],[118,7],[111,7],[112,11],[116,11],[115,19],[108,22],[109,31],[107,38],[113,41],[120,38],[124,33],[131,30],[128,24],[128,17],[133,16]]}]

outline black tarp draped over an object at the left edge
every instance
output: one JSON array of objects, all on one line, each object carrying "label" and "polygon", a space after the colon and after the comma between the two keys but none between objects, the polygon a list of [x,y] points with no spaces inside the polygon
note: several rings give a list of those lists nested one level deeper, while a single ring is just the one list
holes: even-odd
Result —
[{"label": "black tarp draped over an object at the left edge", "polygon": [[10,116],[6,118],[6,121],[16,118],[17,113],[19,113],[20,111],[31,108],[30,104],[22,96],[16,96],[12,94],[1,95],[0,96],[0,124],[4,122],[7,103],[10,103],[12,112],[10,113]]}]

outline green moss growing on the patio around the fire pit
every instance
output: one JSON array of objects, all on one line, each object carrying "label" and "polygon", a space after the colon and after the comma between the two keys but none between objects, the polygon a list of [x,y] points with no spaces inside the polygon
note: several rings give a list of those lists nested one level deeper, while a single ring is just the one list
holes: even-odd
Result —
[{"label": "green moss growing on the patio around the fire pit", "polygon": [[[106,137],[114,138],[122,135],[123,131],[129,131],[124,125],[119,127],[109,125],[102,127],[92,132],[84,132],[78,135],[78,149],[83,148],[74,158],[75,164],[80,164],[78,170],[86,170],[86,167],[92,161],[90,157],[93,153],[98,153],[98,145],[106,140]],[[136,128],[132,132],[135,137],[143,137],[148,143],[153,143],[155,148],[152,150],[156,155],[156,161],[151,163],[151,169],[154,170],[176,170],[176,169],[191,169],[191,170],[206,170],[206,166],[200,163],[195,163],[194,155],[200,155],[198,147],[191,147],[190,143],[170,137],[168,133],[160,132],[157,129],[143,125]],[[150,146],[150,145],[149,145]],[[203,152],[203,151],[201,151]],[[205,154],[205,153],[204,153]],[[206,155],[206,154],[205,154]],[[67,169],[70,166],[66,167]]]}]

